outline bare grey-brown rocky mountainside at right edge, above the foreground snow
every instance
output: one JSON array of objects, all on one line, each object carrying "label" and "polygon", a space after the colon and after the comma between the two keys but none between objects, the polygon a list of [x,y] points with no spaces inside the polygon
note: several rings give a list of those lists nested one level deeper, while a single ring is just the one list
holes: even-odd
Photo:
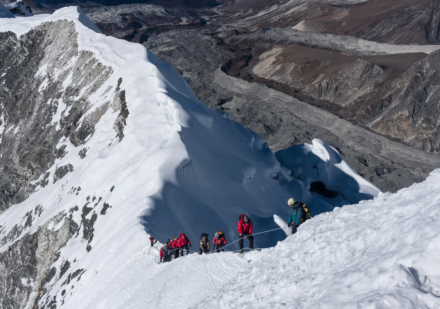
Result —
[{"label": "bare grey-brown rocky mountainside at right edge, above the foreground snow", "polygon": [[354,114],[374,130],[395,136],[414,147],[430,152],[440,151],[439,51],[415,63],[404,74],[374,88],[348,110],[363,110]]}]

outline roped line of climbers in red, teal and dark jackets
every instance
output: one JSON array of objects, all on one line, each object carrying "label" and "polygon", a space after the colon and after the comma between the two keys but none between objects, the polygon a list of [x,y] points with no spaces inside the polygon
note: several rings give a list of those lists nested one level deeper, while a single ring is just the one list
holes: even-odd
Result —
[{"label": "roped line of climbers in red, teal and dark jackets", "polygon": [[[298,227],[307,219],[310,219],[310,210],[303,202],[298,202],[297,200],[291,198],[287,201],[290,206],[289,221],[287,226],[292,228],[292,234],[297,232]],[[246,214],[242,214],[238,217],[238,244],[240,246],[240,253],[243,253],[244,246],[243,241],[245,238],[249,240],[249,249],[253,250],[253,235],[252,235],[252,221]],[[200,248],[198,254],[209,254],[209,248],[211,244],[209,243],[209,234],[202,233],[200,235]],[[151,246],[153,246],[154,238],[150,237]],[[190,253],[188,248],[191,247],[191,242],[185,233],[181,233],[179,238],[173,240],[167,239],[165,245],[161,247],[160,250],[160,261],[167,262],[171,261],[171,258],[178,258],[183,256],[183,249],[187,250],[187,255]],[[223,231],[216,232],[213,238],[213,251],[220,252],[224,251],[224,246],[226,245],[226,237]]]}]

